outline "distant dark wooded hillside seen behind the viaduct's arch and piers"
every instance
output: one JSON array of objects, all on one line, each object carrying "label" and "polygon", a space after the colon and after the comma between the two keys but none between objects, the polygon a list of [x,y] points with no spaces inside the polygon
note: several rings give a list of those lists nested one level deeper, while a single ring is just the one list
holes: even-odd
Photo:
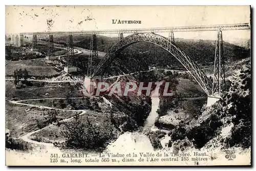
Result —
[{"label": "distant dark wooded hillside seen behind the viaduct's arch and piers", "polygon": [[[42,38],[47,40],[47,38]],[[67,36],[59,35],[54,37],[54,41],[66,45]],[[91,35],[74,35],[74,46],[90,49]],[[117,42],[117,37],[97,36],[98,51],[107,52],[112,45]],[[201,67],[208,67],[213,64],[215,56],[215,40],[194,40],[176,38],[175,43],[182,48],[192,59],[200,63]],[[240,60],[250,56],[250,49],[239,47],[228,42],[224,42],[224,57],[226,61]],[[87,71],[88,59],[83,55],[78,57],[73,65]],[[99,59],[93,61],[93,68],[96,67]],[[119,66],[122,66],[121,68]],[[124,49],[111,65],[105,65],[104,73],[113,75],[118,73],[132,73],[141,70],[148,70],[148,67],[169,68],[175,70],[185,70],[181,63],[171,56],[169,52],[161,47],[148,43],[139,42]],[[101,71],[100,71],[101,72]]]}]

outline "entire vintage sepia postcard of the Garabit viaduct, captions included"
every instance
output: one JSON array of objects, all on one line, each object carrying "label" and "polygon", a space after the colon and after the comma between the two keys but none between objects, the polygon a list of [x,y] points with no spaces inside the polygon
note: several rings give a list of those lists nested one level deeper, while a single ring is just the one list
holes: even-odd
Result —
[{"label": "entire vintage sepia postcard of the Garabit viaduct, captions included", "polygon": [[251,165],[250,6],[6,6],[6,165]]}]

